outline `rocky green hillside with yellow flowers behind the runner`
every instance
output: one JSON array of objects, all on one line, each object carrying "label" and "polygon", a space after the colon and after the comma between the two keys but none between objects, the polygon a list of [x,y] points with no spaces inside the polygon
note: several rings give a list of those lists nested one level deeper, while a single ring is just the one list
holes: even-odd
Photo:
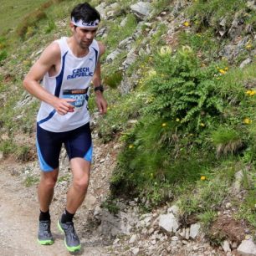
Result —
[{"label": "rocky green hillside with yellow flowers behind the runner", "polygon": [[[24,17],[24,1],[22,22],[0,31],[0,162],[22,166],[15,178],[31,197],[39,102],[22,81],[46,45],[70,34],[69,11],[79,3],[41,2]],[[249,255],[242,245],[250,243],[256,255],[255,1],[90,3],[102,16],[97,39],[107,47],[109,108],[99,116],[91,97],[94,169],[102,177],[92,177],[93,207],[78,218],[110,235],[107,248],[100,240],[100,253]],[[70,182],[64,153],[62,161],[59,194]],[[64,202],[57,198],[54,209]],[[177,228],[166,228],[170,214]],[[201,232],[193,237],[195,227]]]}]

